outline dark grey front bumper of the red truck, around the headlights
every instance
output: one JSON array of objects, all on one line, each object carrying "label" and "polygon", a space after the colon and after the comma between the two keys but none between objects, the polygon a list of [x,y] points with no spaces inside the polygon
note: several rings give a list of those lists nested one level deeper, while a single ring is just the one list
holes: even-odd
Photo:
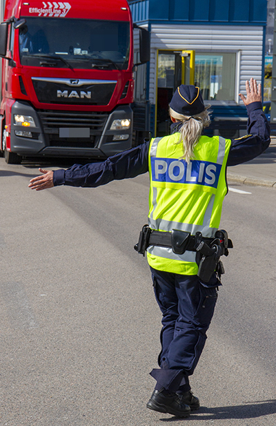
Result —
[{"label": "dark grey front bumper of the red truck, around the headlights", "polygon": [[[32,117],[34,126],[14,124],[14,115]],[[126,119],[130,126],[111,129],[115,120]],[[106,158],[132,146],[132,122],[132,109],[127,105],[118,106],[111,113],[86,113],[34,110],[25,101],[15,101],[10,149],[26,157]]]}]

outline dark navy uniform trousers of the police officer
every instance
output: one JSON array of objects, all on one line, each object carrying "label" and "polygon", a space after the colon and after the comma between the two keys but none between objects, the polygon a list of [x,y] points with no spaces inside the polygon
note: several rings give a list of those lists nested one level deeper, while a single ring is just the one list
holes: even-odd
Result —
[{"label": "dark navy uniform trousers of the police officer", "polygon": [[220,284],[215,273],[208,284],[197,275],[180,275],[150,268],[155,297],[161,313],[160,369],[150,375],[155,389],[184,393],[206,342]]}]

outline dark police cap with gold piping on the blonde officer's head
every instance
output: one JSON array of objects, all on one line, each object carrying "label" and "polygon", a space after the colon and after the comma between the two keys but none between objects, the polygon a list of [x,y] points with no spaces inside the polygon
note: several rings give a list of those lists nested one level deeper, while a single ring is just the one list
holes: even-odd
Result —
[{"label": "dark police cap with gold piping on the blonde officer's head", "polygon": [[172,96],[170,108],[182,115],[197,115],[201,113],[205,106],[199,87],[192,84],[181,84]]}]

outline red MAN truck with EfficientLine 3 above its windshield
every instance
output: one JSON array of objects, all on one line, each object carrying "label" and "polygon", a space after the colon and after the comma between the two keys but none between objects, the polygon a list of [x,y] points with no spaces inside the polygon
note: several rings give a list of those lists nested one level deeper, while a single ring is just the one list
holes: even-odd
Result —
[{"label": "red MAN truck with EfficientLine 3 above its windshield", "polygon": [[[140,61],[149,33],[139,28]],[[0,151],[106,158],[132,146],[133,23],[126,0],[6,0]]]}]

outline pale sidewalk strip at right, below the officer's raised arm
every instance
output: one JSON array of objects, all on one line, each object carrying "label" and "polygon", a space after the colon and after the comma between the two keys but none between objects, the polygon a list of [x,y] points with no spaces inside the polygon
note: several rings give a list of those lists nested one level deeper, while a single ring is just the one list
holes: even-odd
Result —
[{"label": "pale sidewalk strip at right, below the officer's raised arm", "polygon": [[276,137],[271,137],[268,149],[244,164],[227,168],[228,182],[270,186],[276,189]]}]

